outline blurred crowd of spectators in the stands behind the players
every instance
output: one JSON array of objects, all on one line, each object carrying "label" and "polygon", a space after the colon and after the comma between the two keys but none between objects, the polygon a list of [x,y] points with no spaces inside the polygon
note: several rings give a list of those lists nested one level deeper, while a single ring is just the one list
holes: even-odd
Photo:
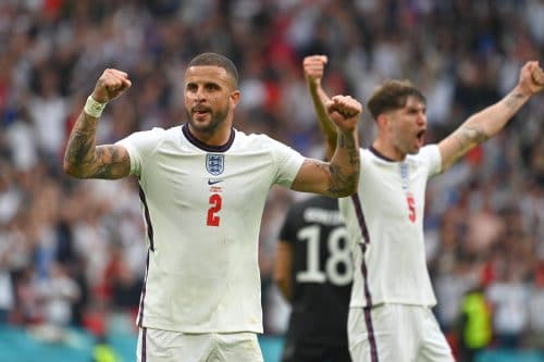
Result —
[{"label": "blurred crowd of spectators in the stands behind the players", "polygon": [[[100,335],[121,314],[132,327],[146,257],[137,180],[67,177],[66,137],[106,67],[127,72],[133,87],[108,105],[99,143],[185,122],[186,62],[206,51],[238,66],[240,130],[320,157],[301,60],[326,54],[330,95],[364,103],[386,78],[418,85],[432,142],[509,91],[526,61],[542,66],[544,0],[1,1],[0,323]],[[363,147],[373,127],[367,112]],[[270,334],[284,327],[271,297],[277,233],[298,197],[273,189],[262,217]],[[544,348],[542,96],[433,179],[426,209],[436,314],[448,336],[463,296],[479,288],[491,305],[491,344]]]}]

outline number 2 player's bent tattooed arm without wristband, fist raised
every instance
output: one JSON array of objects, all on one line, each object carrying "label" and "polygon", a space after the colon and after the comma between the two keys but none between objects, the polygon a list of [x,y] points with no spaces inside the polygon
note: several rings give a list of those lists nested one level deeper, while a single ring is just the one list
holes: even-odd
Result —
[{"label": "number 2 player's bent tattooed arm without wristband, fist raised", "polygon": [[292,189],[335,198],[350,196],[357,190],[359,180],[359,142],[356,135],[362,105],[349,96],[335,96],[326,102],[325,110],[338,128],[332,160],[307,159]]}]

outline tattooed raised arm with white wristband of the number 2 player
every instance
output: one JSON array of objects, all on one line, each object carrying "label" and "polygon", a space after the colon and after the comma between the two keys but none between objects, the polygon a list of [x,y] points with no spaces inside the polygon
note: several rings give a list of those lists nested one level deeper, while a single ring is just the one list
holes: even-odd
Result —
[{"label": "tattooed raised arm with white wristband of the number 2 player", "polygon": [[106,104],[131,87],[125,72],[106,70],[70,134],[64,172],[78,178],[121,178],[128,175],[131,160],[122,146],[96,146],[97,124]]}]

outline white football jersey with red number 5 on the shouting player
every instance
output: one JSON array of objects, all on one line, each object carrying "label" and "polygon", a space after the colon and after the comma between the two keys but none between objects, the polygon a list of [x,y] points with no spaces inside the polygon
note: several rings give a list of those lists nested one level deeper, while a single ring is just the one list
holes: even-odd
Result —
[{"label": "white football jersey with red number 5 on the shouting player", "polygon": [[339,200],[354,250],[350,307],[434,305],[425,260],[423,210],[428,179],[441,171],[437,146],[403,162],[360,150],[356,195]]}]

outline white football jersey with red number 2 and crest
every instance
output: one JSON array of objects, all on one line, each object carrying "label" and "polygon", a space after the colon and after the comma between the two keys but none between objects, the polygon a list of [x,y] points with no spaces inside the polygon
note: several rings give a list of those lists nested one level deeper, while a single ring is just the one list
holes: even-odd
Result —
[{"label": "white football jersey with red number 2 and crest", "polygon": [[148,263],[138,325],[182,333],[262,333],[258,241],[267,195],[305,158],[235,130],[210,147],[186,125],[119,141],[138,176]]}]

